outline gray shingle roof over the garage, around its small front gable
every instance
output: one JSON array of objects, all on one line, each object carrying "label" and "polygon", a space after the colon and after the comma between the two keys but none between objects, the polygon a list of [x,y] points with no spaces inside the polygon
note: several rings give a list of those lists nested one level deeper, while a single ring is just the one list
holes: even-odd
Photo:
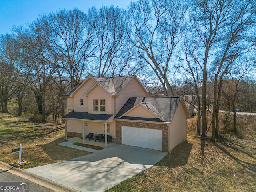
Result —
[{"label": "gray shingle roof over the garage, around its small front gable", "polygon": [[[174,117],[174,114],[178,108],[178,105],[180,104],[180,101],[182,100],[181,97],[131,97],[128,99],[126,104],[121,108],[121,110],[118,112],[116,117],[114,119],[130,119],[135,120],[134,117],[121,117],[124,113],[126,113],[128,110],[133,108],[139,103],[150,103],[154,106],[154,108],[157,110],[157,112],[160,113],[160,115],[166,120],[166,122],[172,122],[172,118]],[[150,118],[152,119],[152,118]],[[145,120],[145,118],[136,118],[136,120]],[[152,121],[152,120],[151,120]],[[153,121],[162,122],[162,120],[155,119]]]}]

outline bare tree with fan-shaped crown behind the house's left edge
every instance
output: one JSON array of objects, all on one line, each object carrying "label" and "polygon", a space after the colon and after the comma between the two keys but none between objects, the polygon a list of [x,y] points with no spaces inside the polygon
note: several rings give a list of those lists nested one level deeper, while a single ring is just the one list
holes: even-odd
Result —
[{"label": "bare tree with fan-shaped crown behind the house's left edge", "polygon": [[93,29],[86,14],[77,8],[60,10],[40,16],[33,28],[54,60],[61,60],[57,67],[66,71],[71,88],[77,86],[85,76],[88,59],[95,48]]}]

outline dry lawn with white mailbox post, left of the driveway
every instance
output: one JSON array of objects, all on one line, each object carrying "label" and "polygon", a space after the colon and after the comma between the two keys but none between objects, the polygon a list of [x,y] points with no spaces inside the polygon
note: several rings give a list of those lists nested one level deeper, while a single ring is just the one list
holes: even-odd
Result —
[{"label": "dry lawn with white mailbox post, left of the driveway", "polygon": [[64,125],[34,123],[23,117],[0,113],[0,160],[9,164],[18,160],[12,148],[22,144],[22,159],[31,162],[21,168],[31,168],[60,162],[90,152],[57,145],[65,142]]}]

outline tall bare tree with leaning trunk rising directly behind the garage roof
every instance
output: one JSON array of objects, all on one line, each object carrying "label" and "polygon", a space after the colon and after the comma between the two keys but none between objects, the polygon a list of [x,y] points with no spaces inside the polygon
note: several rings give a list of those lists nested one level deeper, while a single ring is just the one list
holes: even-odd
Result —
[{"label": "tall bare tree with leaning trunk rising directly behind the garage roof", "polygon": [[167,96],[174,96],[169,78],[172,56],[184,30],[188,4],[182,0],[140,0],[129,7],[131,42],[152,68]]}]

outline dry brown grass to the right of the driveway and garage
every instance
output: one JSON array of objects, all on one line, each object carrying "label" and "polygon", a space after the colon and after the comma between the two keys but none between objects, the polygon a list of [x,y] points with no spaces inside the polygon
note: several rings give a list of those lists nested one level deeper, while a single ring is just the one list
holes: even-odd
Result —
[{"label": "dry brown grass to the right of the driveway and garage", "polygon": [[256,191],[256,142],[189,136],[160,162],[109,192]]}]

